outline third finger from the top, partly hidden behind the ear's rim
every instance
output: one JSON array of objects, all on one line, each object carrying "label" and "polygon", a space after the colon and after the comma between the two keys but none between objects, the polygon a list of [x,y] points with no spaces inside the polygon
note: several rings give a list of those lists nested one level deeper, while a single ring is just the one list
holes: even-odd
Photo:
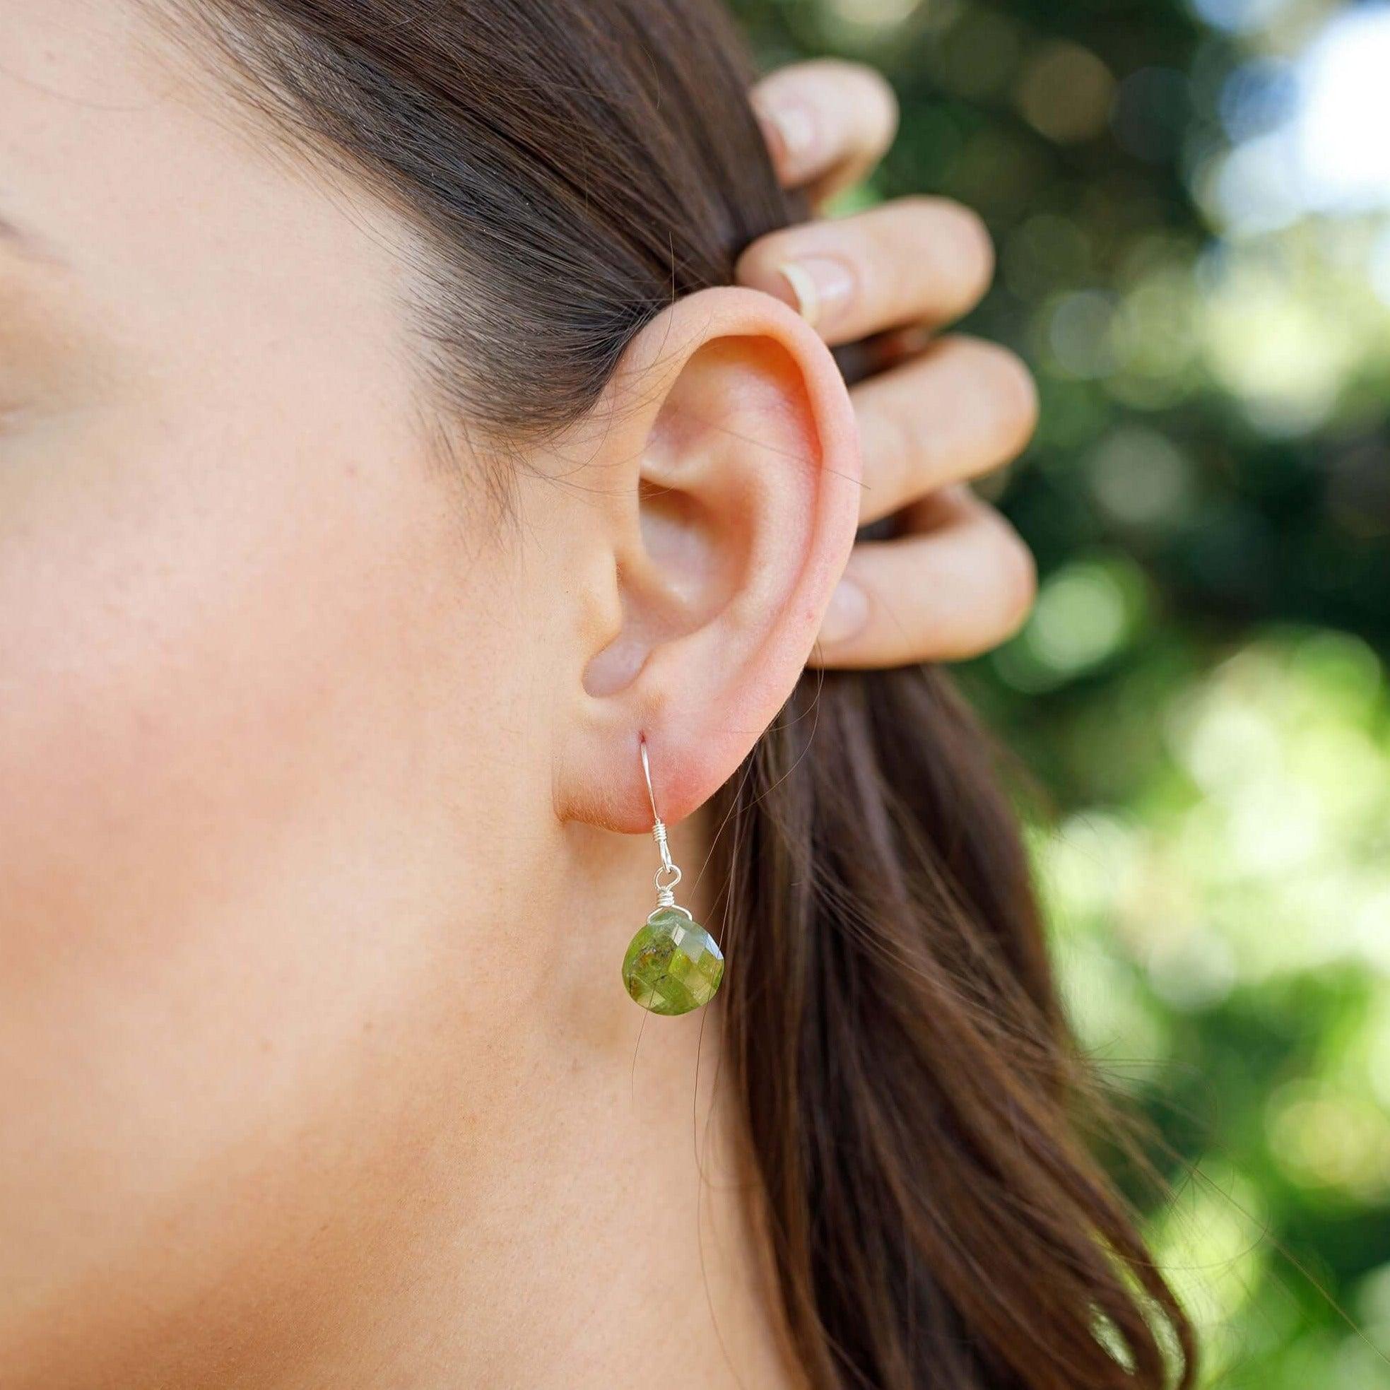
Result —
[{"label": "third finger from the top, partly hidden behind the ear's rim", "polygon": [[1027,367],[979,338],[938,338],[851,396],[863,457],[860,524],[1017,457],[1038,417]]}]

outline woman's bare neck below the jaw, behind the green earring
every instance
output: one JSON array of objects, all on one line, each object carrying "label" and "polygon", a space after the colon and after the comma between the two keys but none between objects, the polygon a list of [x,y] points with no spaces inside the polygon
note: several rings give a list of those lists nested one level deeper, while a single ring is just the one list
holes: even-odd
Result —
[{"label": "woman's bare neck below the jaw, behind the green earring", "polygon": [[[703,860],[694,835],[671,831],[677,862]],[[532,895],[525,922],[499,913],[506,969],[523,972],[506,1016],[470,1016],[460,986],[500,994],[468,974],[506,959],[495,942],[436,959],[410,1019],[384,1022],[354,1074],[317,1083],[335,1098],[313,1126],[274,1152],[249,1145],[256,1209],[204,1190],[168,1237],[245,1225],[242,1266],[46,1390],[799,1383],[751,1215],[719,999],[669,1019],[613,988],[653,906],[655,847],[632,837],[585,858],[588,884]],[[678,901],[710,922],[701,888],[689,873]],[[539,960],[521,940],[537,923]]]}]

